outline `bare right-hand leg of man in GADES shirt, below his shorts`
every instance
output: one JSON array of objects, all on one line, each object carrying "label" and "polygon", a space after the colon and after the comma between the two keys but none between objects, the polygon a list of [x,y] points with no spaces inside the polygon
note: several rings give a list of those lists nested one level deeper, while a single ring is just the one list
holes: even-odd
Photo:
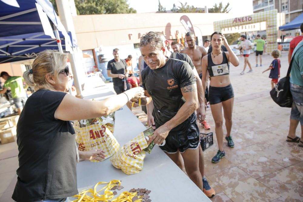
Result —
[{"label": "bare right-hand leg of man in GADES shirt, below his shorts", "polygon": [[181,155],[188,177],[203,191],[202,176],[199,170],[199,149],[187,149]]}]

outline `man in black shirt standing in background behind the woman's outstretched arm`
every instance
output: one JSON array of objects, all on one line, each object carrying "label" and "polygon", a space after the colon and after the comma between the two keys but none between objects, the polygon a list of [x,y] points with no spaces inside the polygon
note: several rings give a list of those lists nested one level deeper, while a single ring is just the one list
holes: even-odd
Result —
[{"label": "man in black shirt standing in background behind the woman's outstretched arm", "polygon": [[107,75],[113,78],[114,90],[117,94],[123,93],[130,89],[126,81],[128,75],[125,60],[119,58],[119,49],[113,50],[114,59],[107,64]]}]

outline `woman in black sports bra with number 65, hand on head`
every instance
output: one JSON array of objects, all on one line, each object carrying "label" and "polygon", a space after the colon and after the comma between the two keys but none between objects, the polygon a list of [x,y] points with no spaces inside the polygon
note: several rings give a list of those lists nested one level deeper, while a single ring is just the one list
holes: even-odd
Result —
[{"label": "woman in black sports bra with number 65, hand on head", "polygon": [[[227,52],[221,51],[223,44],[227,48]],[[225,157],[223,149],[223,115],[224,111],[225,126],[227,135],[225,139],[228,147],[234,147],[230,132],[232,126],[232,108],[234,104],[234,91],[229,80],[229,62],[238,66],[239,60],[235,53],[229,47],[224,35],[220,32],[214,32],[211,35],[212,51],[210,54],[202,58],[202,83],[205,91],[207,71],[211,77],[208,90],[208,99],[210,103],[212,117],[215,121],[215,132],[218,141],[219,150],[212,158],[213,163],[218,163],[222,157]]]}]

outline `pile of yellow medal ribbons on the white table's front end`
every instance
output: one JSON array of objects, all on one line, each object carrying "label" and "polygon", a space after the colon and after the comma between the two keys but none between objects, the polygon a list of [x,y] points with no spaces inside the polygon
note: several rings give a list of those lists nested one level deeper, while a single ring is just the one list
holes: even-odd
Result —
[{"label": "pile of yellow medal ribbons on the white table's front end", "polygon": [[[106,184],[106,185],[101,190],[97,191],[97,186],[99,184]],[[98,182],[95,185],[94,190],[93,189],[82,190],[78,195],[73,196],[75,198],[78,198],[76,200],[73,200],[73,202],[97,202],[97,201],[108,202],[114,197],[114,194],[111,191],[111,189],[115,186],[120,186],[120,185],[121,185],[120,180],[111,180],[110,182]],[[99,194],[99,192],[101,192],[102,190],[104,190],[104,194]],[[137,196],[137,192],[124,191],[117,198],[111,200],[111,202],[132,202],[132,198],[135,196]],[[137,197],[141,198],[140,196]],[[142,200],[137,199],[135,200],[135,202],[142,202]]]}]

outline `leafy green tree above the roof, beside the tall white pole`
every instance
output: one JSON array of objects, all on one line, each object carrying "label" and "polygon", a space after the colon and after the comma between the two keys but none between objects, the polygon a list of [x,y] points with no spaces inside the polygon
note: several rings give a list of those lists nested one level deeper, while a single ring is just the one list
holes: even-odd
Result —
[{"label": "leafy green tree above the roof, beside the tall white pole", "polygon": [[[55,0],[50,0],[58,14]],[[78,15],[137,13],[134,8],[129,8],[126,0],[75,0]]]}]

